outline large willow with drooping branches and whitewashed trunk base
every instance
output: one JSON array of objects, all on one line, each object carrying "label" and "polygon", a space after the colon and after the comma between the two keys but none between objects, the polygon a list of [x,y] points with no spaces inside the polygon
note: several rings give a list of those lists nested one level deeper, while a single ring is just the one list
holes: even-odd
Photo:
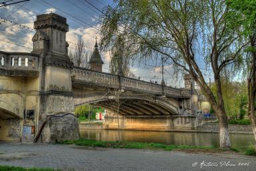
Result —
[{"label": "large willow with drooping branches and whitewashed trunk base", "polygon": [[[182,68],[193,76],[217,114],[220,148],[231,146],[221,71],[237,62],[241,50],[234,48],[239,36],[226,27],[227,12],[221,0],[120,0],[105,9],[101,27],[104,50],[112,48],[116,35],[123,35],[127,37],[126,58],[164,55],[174,69]],[[203,64],[211,68],[217,98],[205,82],[199,67]]]}]

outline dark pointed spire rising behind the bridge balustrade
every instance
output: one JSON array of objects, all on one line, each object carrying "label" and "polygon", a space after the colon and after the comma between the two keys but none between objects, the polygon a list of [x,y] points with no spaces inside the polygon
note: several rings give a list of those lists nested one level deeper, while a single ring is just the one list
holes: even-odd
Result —
[{"label": "dark pointed spire rising behind the bridge balustrade", "polygon": [[92,52],[92,56],[90,57],[89,61],[90,70],[102,72],[102,64],[104,64],[104,62],[100,57],[100,52],[98,52],[98,44],[96,40],[94,45],[94,51]]}]

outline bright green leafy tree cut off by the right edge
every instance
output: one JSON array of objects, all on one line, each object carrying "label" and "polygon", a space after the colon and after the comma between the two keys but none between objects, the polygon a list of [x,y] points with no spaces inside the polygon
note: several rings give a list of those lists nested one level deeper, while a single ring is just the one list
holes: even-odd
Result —
[{"label": "bright green leafy tree cut off by the right edge", "polygon": [[[256,116],[255,116],[255,96],[256,96],[256,1],[255,0],[229,0],[231,7],[230,20],[233,25],[239,25],[240,34],[243,36],[247,46],[247,56],[245,56],[245,74],[247,74],[248,93],[248,114],[253,127],[253,134],[256,140]],[[256,149],[256,144],[255,144]]]}]

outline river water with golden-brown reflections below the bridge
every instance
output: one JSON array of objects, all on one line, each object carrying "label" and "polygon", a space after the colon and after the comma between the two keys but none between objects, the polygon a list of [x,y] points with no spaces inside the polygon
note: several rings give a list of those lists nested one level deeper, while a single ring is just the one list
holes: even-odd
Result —
[{"label": "river water with golden-brown reflections below the bridge", "polygon": [[[97,141],[118,141],[118,131],[80,129],[80,136]],[[120,131],[122,141],[190,146],[219,146],[217,133],[178,133],[157,131]],[[231,134],[233,148],[244,149],[255,143],[253,135]]]}]

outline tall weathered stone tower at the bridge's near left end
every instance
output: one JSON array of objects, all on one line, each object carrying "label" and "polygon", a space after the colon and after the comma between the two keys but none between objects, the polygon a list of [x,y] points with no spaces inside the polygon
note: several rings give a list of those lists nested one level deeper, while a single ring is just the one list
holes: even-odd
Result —
[{"label": "tall weathered stone tower at the bridge's near left end", "polygon": [[[34,28],[37,32],[33,36],[33,52],[40,54],[42,57],[40,62],[40,85],[41,91],[44,93],[41,95],[41,113],[39,113],[38,119],[38,129],[40,129],[48,115],[72,113],[74,105],[72,103],[70,71],[73,64],[68,58],[68,43],[66,42],[68,25],[66,24],[66,18],[55,13],[37,15]],[[75,118],[69,119],[69,121],[64,117],[59,121],[55,119],[49,119],[48,125],[41,133],[41,141],[51,142],[60,137],[62,139],[72,139],[79,136],[78,123]],[[51,125],[55,126],[51,127]],[[58,130],[61,135],[57,133]],[[71,137],[65,137],[66,135],[71,135]]]}]

